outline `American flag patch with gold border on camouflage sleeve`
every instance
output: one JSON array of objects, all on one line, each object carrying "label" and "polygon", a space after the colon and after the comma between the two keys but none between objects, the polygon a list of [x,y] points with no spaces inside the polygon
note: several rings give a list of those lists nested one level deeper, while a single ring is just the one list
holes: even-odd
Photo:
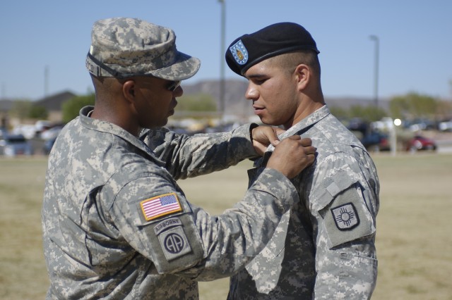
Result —
[{"label": "American flag patch with gold border on camouflage sleeve", "polygon": [[176,194],[163,194],[140,202],[145,220],[150,221],[162,215],[182,211]]}]

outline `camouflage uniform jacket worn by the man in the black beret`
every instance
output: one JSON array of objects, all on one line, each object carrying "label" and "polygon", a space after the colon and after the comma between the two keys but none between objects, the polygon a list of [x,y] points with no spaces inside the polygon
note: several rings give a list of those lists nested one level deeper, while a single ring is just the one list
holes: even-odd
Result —
[{"label": "camouflage uniform jacket worn by the man in the black beret", "polygon": [[[297,134],[317,148],[314,164],[295,180],[300,201],[261,254],[231,278],[229,299],[369,299],[377,271],[375,165],[327,106],[283,137]],[[266,156],[249,171],[250,184]]]}]

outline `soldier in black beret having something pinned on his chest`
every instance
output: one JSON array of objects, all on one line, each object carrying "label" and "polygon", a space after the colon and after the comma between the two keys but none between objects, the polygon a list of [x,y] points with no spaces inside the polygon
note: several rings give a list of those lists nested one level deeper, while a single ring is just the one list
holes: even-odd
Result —
[{"label": "soldier in black beret having something pinned on his chest", "polygon": [[[374,291],[379,179],[364,146],[328,111],[318,54],[296,23],[242,35],[226,49],[227,64],[249,80],[245,96],[262,122],[283,125],[281,139],[310,137],[318,149],[316,162],[294,179],[300,201],[232,276],[228,299],[369,299]],[[249,171],[250,185],[266,157]]]}]

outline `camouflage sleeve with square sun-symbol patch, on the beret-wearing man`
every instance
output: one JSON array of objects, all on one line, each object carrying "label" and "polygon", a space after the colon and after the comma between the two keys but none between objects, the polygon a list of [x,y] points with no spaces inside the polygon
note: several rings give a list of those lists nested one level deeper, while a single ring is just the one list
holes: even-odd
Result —
[{"label": "camouflage sleeve with square sun-symbol patch, on the beret-wearing man", "polygon": [[309,207],[316,243],[314,299],[370,299],[377,275],[378,196],[356,161],[336,157],[327,164],[318,166]]}]

